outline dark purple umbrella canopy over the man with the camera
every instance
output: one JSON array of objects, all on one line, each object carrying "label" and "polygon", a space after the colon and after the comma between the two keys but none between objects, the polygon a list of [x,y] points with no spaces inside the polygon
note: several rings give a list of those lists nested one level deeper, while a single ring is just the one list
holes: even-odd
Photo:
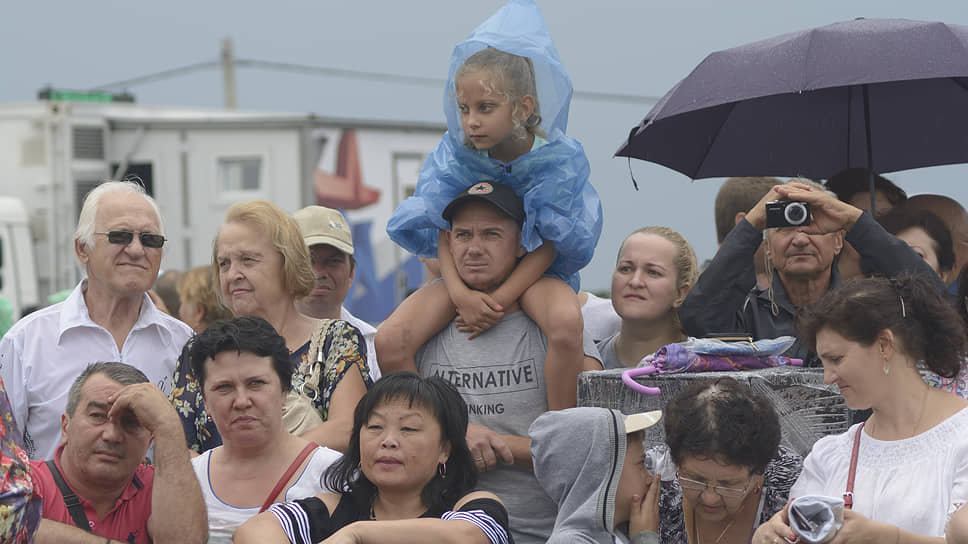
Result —
[{"label": "dark purple umbrella canopy over the man with the camera", "polygon": [[968,27],[857,19],[713,53],[616,155],[693,179],[968,162]]}]

